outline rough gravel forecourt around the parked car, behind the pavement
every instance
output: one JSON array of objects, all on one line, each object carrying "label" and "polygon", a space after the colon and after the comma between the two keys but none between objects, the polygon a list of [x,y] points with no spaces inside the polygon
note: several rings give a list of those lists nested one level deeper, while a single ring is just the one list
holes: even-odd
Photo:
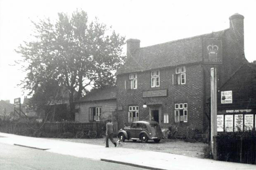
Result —
[{"label": "rough gravel forecourt around the parked car, behind the pavement", "polygon": [[[104,146],[105,138],[96,138],[96,139],[51,138],[51,139]],[[115,138],[114,140],[117,140],[117,138]],[[110,142],[109,146],[111,147],[111,145],[112,143]],[[161,140],[159,143],[154,143],[154,141],[151,141],[151,140],[149,140],[148,143],[142,143],[139,140],[137,142],[133,142],[132,140],[126,140],[125,142],[123,142],[122,147],[203,158],[203,149],[206,146],[208,146],[208,144],[205,144],[202,142],[184,142],[182,140],[166,139],[166,140]]]}]

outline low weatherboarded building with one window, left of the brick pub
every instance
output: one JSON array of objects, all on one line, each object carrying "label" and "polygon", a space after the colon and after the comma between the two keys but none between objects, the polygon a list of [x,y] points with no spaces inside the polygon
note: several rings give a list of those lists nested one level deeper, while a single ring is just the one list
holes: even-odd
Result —
[{"label": "low weatherboarded building with one window, left of the brick pub", "polygon": [[94,89],[76,102],[76,122],[116,120],[116,87]]}]

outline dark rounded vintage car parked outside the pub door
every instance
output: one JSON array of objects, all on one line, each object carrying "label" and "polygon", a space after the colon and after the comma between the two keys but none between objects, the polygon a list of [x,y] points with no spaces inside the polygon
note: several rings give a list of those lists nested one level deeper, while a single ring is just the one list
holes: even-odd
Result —
[{"label": "dark rounded vintage car parked outside the pub door", "polygon": [[163,133],[159,124],[156,121],[135,121],[131,126],[125,126],[118,132],[119,140],[124,142],[125,140],[141,140],[147,142],[148,140],[154,140],[154,142],[160,142],[163,137]]}]

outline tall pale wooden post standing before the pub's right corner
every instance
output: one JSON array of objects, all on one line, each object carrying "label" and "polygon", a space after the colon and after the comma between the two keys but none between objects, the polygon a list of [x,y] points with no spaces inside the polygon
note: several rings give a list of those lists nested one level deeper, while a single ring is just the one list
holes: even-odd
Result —
[{"label": "tall pale wooden post standing before the pub's right corner", "polygon": [[217,135],[217,77],[216,68],[211,68],[211,153],[216,157],[214,151],[213,136]]}]

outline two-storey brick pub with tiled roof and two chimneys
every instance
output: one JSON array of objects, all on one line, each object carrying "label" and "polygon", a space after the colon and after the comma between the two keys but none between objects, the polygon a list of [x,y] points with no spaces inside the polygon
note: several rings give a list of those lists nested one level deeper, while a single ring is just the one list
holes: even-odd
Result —
[{"label": "two-storey brick pub with tiled roof and two chimneys", "polygon": [[217,68],[220,87],[248,62],[244,16],[229,19],[228,29],[149,47],[140,47],[140,40],[127,40],[127,61],[116,72],[119,128],[153,119],[166,127],[179,125],[180,131],[206,130],[210,69]]}]

